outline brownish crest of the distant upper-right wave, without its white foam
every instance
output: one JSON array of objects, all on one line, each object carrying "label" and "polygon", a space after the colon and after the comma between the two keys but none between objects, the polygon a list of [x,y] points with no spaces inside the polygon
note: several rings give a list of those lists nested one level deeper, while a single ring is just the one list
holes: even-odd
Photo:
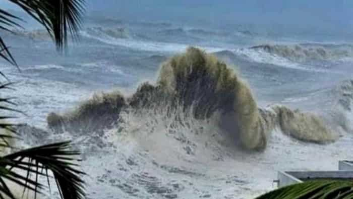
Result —
[{"label": "brownish crest of the distant upper-right wave, without its white foam", "polygon": [[353,46],[325,44],[257,45],[250,47],[292,61],[337,60],[353,56]]}]

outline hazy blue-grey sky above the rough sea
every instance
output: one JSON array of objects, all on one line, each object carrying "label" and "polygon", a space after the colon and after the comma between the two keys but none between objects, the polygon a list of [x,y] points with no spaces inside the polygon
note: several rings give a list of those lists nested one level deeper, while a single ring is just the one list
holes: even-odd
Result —
[{"label": "hazy blue-grey sky above the rough sea", "polygon": [[[252,23],[353,30],[352,0],[87,0],[88,11],[132,20]],[[6,0],[0,6],[9,8]]]}]

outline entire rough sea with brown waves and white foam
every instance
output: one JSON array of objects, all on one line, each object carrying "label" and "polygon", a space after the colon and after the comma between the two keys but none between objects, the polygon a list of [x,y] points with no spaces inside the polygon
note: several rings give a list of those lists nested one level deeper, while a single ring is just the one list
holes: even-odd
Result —
[{"label": "entire rough sea with brown waves and white foam", "polygon": [[21,68],[2,63],[18,82],[6,94],[28,115],[19,144],[72,139],[87,198],[252,198],[278,170],[353,159],[340,37],[100,20],[64,56],[42,30],[3,34]]}]

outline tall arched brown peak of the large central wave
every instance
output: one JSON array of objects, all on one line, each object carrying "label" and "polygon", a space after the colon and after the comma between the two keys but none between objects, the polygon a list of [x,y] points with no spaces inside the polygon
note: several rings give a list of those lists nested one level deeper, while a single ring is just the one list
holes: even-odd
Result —
[{"label": "tall arched brown peak of the large central wave", "polygon": [[[221,125],[249,149],[264,147],[257,104],[249,87],[225,63],[200,49],[189,48],[162,64],[159,84],[177,95],[195,117],[220,111]],[[229,119],[230,118],[230,119]],[[231,126],[229,126],[229,123]]]}]

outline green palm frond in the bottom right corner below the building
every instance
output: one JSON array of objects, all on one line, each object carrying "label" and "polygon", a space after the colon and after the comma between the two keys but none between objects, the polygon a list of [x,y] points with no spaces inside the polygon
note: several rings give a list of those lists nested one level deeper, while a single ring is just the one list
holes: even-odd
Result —
[{"label": "green palm frond in the bottom right corner below the building", "polygon": [[353,181],[314,180],[276,189],[256,199],[351,199]]}]

